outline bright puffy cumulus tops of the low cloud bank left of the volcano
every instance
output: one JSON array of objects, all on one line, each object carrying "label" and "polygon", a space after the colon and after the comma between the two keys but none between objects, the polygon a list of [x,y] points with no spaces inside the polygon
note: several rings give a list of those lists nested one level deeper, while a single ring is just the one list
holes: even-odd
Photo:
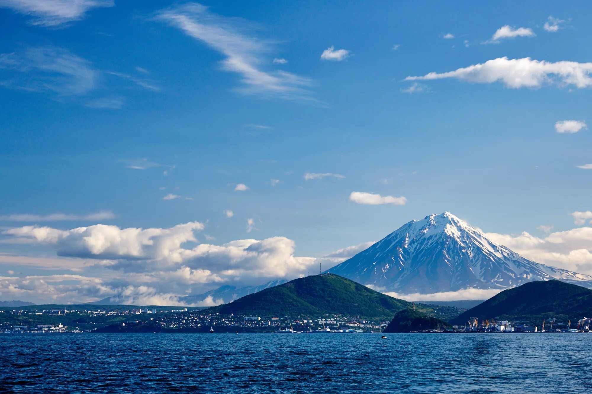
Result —
[{"label": "bright puffy cumulus tops of the low cloud bank left of the volcano", "polygon": [[[250,219],[248,225],[254,225]],[[127,269],[128,272],[176,272],[186,275],[235,278],[247,276],[297,276],[301,269],[314,263],[312,257],[294,257],[295,243],[285,237],[272,237],[262,241],[237,240],[221,246],[198,243],[194,232],[203,230],[204,224],[189,222],[171,228],[119,228],[110,225],[92,225],[73,230],[50,227],[25,226],[2,232],[16,239],[53,246],[59,256],[79,257],[105,261],[102,266]],[[187,270],[197,270],[195,272]],[[200,271],[201,270],[201,271]],[[207,272],[205,271],[207,270]],[[150,271],[150,272],[152,272]],[[294,277],[295,277],[294,276]],[[210,282],[213,279],[208,279]],[[217,281],[217,279],[215,279]]]}]

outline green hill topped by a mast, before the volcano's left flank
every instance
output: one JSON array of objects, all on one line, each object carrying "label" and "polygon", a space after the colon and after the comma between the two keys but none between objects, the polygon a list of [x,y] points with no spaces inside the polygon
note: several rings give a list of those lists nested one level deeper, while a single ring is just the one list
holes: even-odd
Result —
[{"label": "green hill topped by a mast, before the volcano's left flank", "polygon": [[342,314],[391,318],[410,303],[392,298],[335,274],[291,280],[236,301],[210,308],[221,314],[263,316],[320,316]]}]

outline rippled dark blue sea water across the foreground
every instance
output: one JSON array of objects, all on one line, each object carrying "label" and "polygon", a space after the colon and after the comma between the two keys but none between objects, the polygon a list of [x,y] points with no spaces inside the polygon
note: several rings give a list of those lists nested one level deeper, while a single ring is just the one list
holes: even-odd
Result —
[{"label": "rippled dark blue sea water across the foreground", "polygon": [[592,389],[592,334],[2,334],[1,393]]}]

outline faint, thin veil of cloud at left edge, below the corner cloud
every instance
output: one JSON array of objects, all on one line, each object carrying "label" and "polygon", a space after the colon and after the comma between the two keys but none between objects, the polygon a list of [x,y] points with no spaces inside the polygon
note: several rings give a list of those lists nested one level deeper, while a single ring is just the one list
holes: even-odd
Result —
[{"label": "faint, thin veil of cloud at left edge, below the corner cloud", "polygon": [[0,69],[14,72],[3,86],[60,96],[85,95],[95,88],[99,72],[90,62],[57,47],[28,48],[22,54],[0,54]]}]

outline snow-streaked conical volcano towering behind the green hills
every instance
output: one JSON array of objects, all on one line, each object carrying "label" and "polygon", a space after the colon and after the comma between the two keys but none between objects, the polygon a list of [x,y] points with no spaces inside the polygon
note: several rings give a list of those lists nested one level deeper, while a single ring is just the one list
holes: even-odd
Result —
[{"label": "snow-streaked conical volcano towering behind the green hills", "polygon": [[528,260],[450,212],[410,221],[330,272],[398,293],[512,288],[550,279],[592,288],[592,276]]}]

